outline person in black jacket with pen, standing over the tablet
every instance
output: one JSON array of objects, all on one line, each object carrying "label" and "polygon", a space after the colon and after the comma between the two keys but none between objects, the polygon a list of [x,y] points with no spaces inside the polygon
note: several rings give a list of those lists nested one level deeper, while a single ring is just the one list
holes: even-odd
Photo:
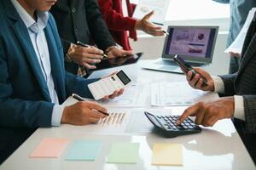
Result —
[{"label": "person in black jacket with pen, standing over the tablet", "polygon": [[[107,54],[109,58],[131,54],[131,51],[117,48],[96,0],[61,0],[50,12],[55,17],[62,38],[67,71],[87,77],[87,70],[96,68],[95,64],[101,62],[102,54]],[[81,47],[75,44],[78,41],[91,46]]]}]

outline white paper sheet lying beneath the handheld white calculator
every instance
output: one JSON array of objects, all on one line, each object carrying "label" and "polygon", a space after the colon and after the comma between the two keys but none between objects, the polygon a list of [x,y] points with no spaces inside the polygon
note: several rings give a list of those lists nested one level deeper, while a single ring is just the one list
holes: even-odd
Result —
[{"label": "white paper sheet lying beneath the handheld white calculator", "polygon": [[[149,87],[148,87],[149,88]],[[107,101],[98,100],[97,103],[105,107],[143,107],[146,105],[146,85],[132,84],[125,88],[124,94],[115,99],[108,99]],[[88,101],[95,101],[94,99],[85,99]],[[62,105],[73,105],[78,100],[69,97]]]}]

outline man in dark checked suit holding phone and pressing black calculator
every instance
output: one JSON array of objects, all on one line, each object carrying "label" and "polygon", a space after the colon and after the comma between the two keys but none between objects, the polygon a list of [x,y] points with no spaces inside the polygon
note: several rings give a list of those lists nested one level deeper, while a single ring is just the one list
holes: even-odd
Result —
[{"label": "man in dark checked suit holding phone and pressing black calculator", "polygon": [[196,116],[195,122],[207,127],[220,119],[234,117],[236,129],[256,162],[256,13],[247,31],[239,71],[211,77],[206,71],[199,68],[195,70],[207,78],[208,85],[202,87],[201,76],[196,74],[192,77],[189,71],[187,80],[192,88],[218,92],[223,97],[189,107],[177,123],[180,124],[188,116]]}]

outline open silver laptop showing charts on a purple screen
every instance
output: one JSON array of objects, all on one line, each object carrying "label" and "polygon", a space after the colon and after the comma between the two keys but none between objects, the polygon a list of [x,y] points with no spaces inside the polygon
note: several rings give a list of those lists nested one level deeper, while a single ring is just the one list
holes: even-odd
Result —
[{"label": "open silver laptop showing charts on a purple screen", "polygon": [[196,67],[212,63],[218,26],[168,26],[167,31],[162,56],[143,65],[144,69],[182,73],[173,60],[175,55]]}]

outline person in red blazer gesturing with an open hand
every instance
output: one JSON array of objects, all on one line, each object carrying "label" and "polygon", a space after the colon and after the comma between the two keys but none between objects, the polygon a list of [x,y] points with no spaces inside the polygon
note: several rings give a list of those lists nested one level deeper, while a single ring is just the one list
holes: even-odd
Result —
[{"label": "person in red blazer gesturing with an open hand", "polygon": [[154,26],[148,22],[150,16],[154,14],[153,11],[145,15],[142,20],[136,20],[131,17],[136,5],[130,3],[129,0],[123,1],[126,1],[128,16],[123,14],[122,0],[98,0],[103,18],[106,20],[115,42],[125,50],[131,50],[127,31],[129,31],[129,37],[135,41],[137,40],[136,30],[142,30],[152,36],[164,35],[160,26]]}]

